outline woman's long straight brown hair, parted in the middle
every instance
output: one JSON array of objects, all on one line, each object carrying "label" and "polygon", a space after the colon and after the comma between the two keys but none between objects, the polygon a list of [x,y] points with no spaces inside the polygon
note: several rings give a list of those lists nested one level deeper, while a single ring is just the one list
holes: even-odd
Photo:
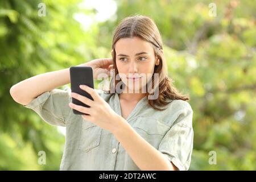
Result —
[{"label": "woman's long straight brown hair, parted in the middle", "polygon": [[[154,48],[155,56],[157,56],[160,60],[159,65],[155,65],[154,68],[154,73],[159,73],[159,97],[156,98],[156,100],[148,100],[148,104],[156,110],[164,110],[156,106],[166,106],[172,100],[189,100],[188,96],[183,96],[177,91],[172,84],[173,80],[168,77],[166,60],[164,59],[164,56],[161,56],[159,53],[159,50],[163,49],[162,38],[154,21],[147,16],[135,15],[127,17],[123,19],[115,28],[112,42],[113,69],[115,70],[113,79],[118,75],[118,69],[115,63],[115,43],[117,43],[119,39],[133,38],[134,36],[150,42]],[[115,81],[113,84],[113,79],[110,81],[110,87],[111,85],[116,86],[119,82],[119,80],[114,79]],[[153,76],[151,80],[152,88],[155,88]],[[148,95],[150,95],[150,93],[147,92],[147,98]],[[171,101],[167,102],[167,99]]]}]

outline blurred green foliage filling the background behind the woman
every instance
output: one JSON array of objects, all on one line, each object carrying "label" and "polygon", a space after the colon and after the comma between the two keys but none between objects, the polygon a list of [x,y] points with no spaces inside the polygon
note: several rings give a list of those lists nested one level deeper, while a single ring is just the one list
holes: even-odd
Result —
[{"label": "blurred green foliage filling the background behind the woman", "polygon": [[[46,4],[46,16],[38,5]],[[209,16],[209,3],[217,16]],[[195,132],[191,170],[256,169],[256,20],[253,0],[116,1],[117,12],[84,30],[75,13],[94,17],[81,0],[0,1],[0,169],[59,169],[65,137],[9,94],[39,73],[110,57],[112,35],[126,16],[155,20],[168,73],[191,97]],[[28,88],[29,89],[29,88]],[[46,151],[47,165],[38,164]],[[217,164],[209,164],[216,151]]]}]

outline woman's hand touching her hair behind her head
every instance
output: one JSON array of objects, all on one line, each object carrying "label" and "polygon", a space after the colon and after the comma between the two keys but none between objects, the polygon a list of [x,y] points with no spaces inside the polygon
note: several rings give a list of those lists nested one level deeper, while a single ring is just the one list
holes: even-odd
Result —
[{"label": "woman's hand touching her hair behind her head", "polygon": [[[113,59],[112,58],[103,58],[103,59],[94,59],[84,64],[93,68],[93,78],[106,78],[110,76],[110,69],[113,68]],[[103,76],[98,77],[101,73]],[[107,76],[108,75],[108,76]]]}]

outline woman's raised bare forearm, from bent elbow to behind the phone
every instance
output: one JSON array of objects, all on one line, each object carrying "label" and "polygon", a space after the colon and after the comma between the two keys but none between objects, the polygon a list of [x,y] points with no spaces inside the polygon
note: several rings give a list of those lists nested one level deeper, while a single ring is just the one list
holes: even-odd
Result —
[{"label": "woman's raised bare forearm, from bent elbow to behind the phone", "polygon": [[[78,66],[83,65],[86,64],[80,64]],[[69,68],[61,69],[59,71],[42,73],[20,81],[11,87],[10,94],[19,104],[27,105],[32,99],[40,96],[40,94],[69,84],[69,82]]]}]

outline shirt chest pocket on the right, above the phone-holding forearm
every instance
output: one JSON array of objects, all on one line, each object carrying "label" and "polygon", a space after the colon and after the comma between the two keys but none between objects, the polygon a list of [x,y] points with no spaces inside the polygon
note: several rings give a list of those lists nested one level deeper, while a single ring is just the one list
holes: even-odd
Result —
[{"label": "shirt chest pocket on the right, above the phone-holding forearm", "polygon": [[139,117],[131,126],[155,148],[159,147],[164,135],[170,129],[170,126],[160,119],[151,117]]}]

